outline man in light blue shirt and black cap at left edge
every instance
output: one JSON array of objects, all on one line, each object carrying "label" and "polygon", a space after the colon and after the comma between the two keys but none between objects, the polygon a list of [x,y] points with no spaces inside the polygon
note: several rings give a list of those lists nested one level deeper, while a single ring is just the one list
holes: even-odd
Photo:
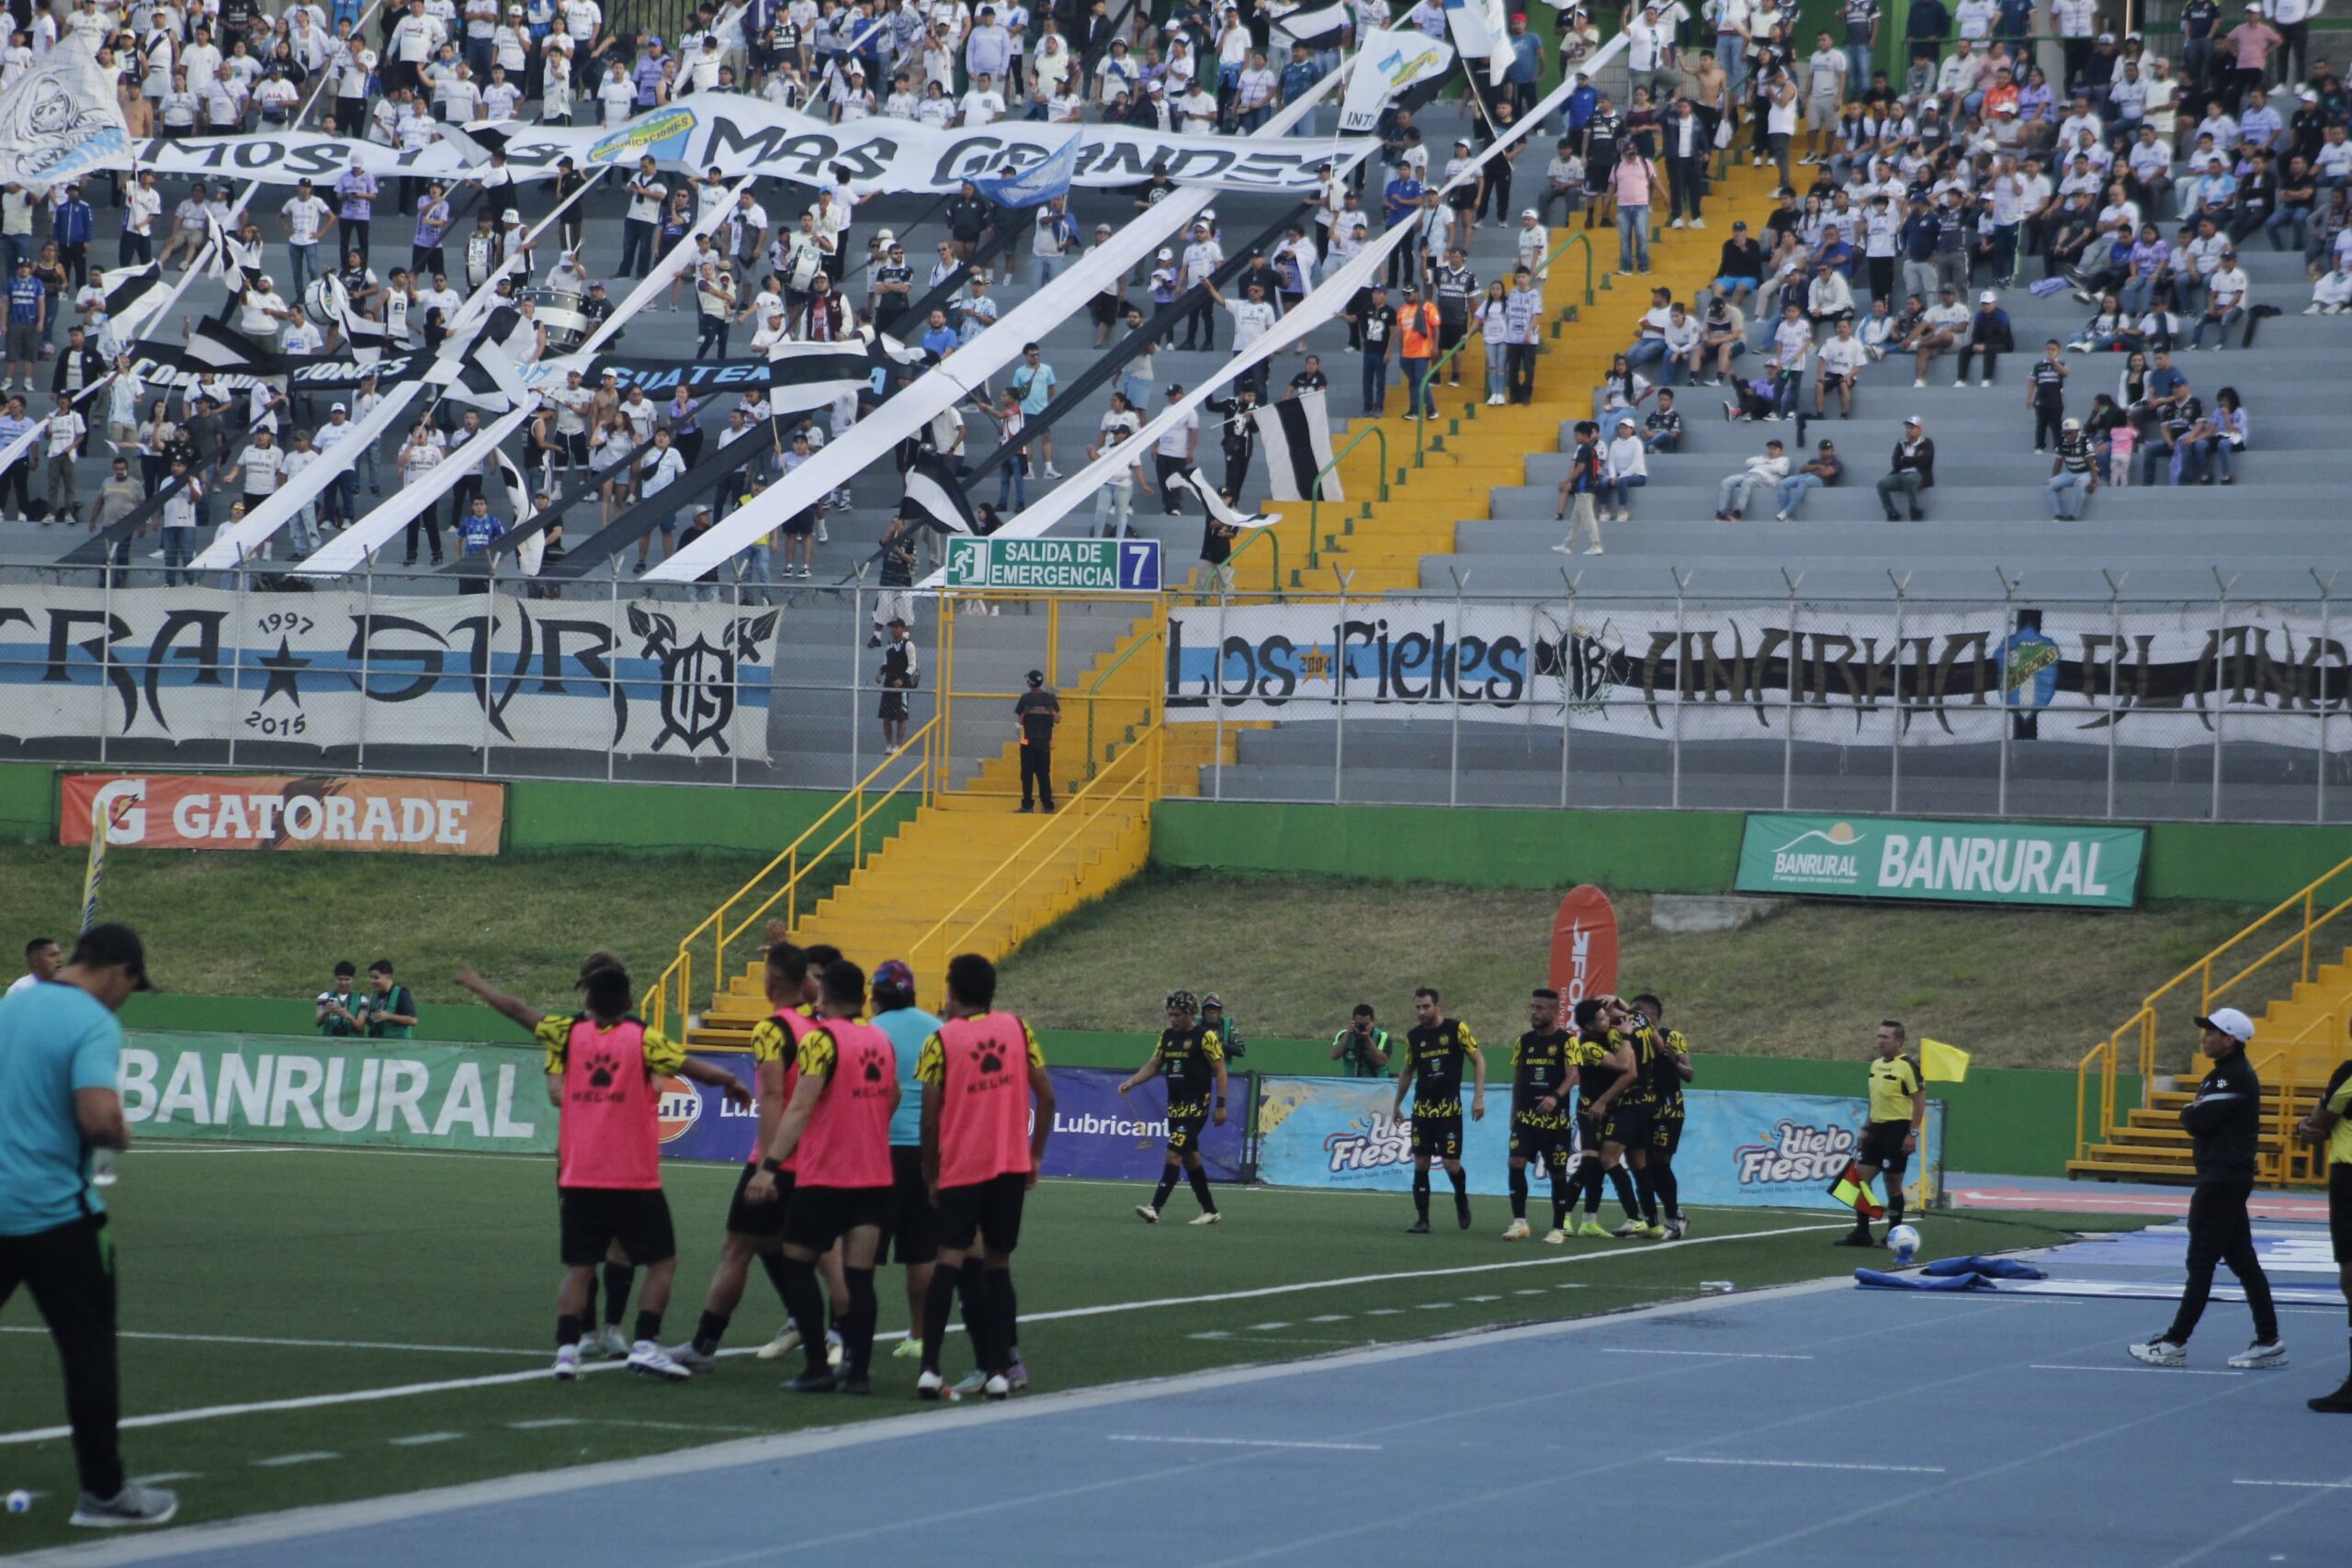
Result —
[{"label": "man in light blue shirt and black cap at left edge", "polygon": [[115,1441],[115,1272],[92,1150],[127,1150],[115,1091],[115,1011],[148,990],[129,926],[92,926],[56,978],[0,1001],[0,1305],[16,1286],[49,1324],[66,1363],[66,1420],[82,1495],[78,1526],[165,1523],[179,1497],[132,1486]]}]

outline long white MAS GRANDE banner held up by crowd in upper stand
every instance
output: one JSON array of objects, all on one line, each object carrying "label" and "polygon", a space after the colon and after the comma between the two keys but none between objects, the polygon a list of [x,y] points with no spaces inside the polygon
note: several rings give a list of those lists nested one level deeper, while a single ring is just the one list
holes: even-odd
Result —
[{"label": "long white MAS GRANDE banner held up by crowd in upper stand", "polygon": [[[1068,132],[1044,122],[1000,122],[971,129],[931,129],[908,120],[868,118],[826,125],[811,115],[776,108],[736,92],[696,92],[670,108],[654,108],[612,129],[562,129],[501,122],[475,127],[506,139],[506,167],[515,179],[555,179],[555,160],[581,169],[635,167],[654,158],[666,169],[703,174],[713,165],[729,179],[769,174],[804,186],[823,183],[835,167],[849,169],[854,186],[875,190],[955,190],[981,174],[1009,174],[1044,162],[1068,141]],[[1167,174],[1183,186],[1218,190],[1310,190],[1317,167],[1331,158],[1355,162],[1369,141],[1284,141],[1279,136],[1181,136],[1127,125],[1089,125],[1080,132],[1080,186],[1141,186]],[[395,153],[372,141],[287,132],[273,136],[193,136],[148,141],[139,167],[165,176],[233,176],[270,186],[303,179],[334,181],[353,162],[376,174],[463,179],[487,167],[487,148],[463,132],[428,148]]]}]

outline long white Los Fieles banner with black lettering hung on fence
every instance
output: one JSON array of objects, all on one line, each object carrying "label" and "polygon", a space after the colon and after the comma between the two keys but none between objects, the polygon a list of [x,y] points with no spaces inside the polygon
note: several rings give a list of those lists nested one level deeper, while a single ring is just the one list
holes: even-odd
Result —
[{"label": "long white Los Fieles banner with black lettering hung on fence", "polygon": [[[2216,630],[2218,628],[2218,630]],[[2122,654],[2122,656],[2119,656]],[[1522,724],[1625,738],[1994,743],[2037,738],[2312,748],[2347,712],[2352,656],[2310,607],[2018,611],[1642,602],[1174,607],[1171,724],[1352,717]],[[1677,715],[1679,708],[1679,715]],[[2267,722],[2263,722],[2267,717]],[[2310,726],[2284,719],[2307,719]],[[1705,731],[1696,724],[1705,722]],[[2352,724],[2326,729],[2352,750]]]}]

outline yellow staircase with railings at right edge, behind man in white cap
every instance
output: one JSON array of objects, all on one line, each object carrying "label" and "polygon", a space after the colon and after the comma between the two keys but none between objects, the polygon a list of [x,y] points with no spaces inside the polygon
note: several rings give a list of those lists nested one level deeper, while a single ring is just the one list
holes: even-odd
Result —
[{"label": "yellow staircase with railings at right edge, behind man in white cap", "polygon": [[[2166,980],[2114,1034],[2091,1046],[2074,1074],[2074,1159],[2067,1175],[2105,1180],[2190,1180],[2190,1135],[2180,1128],[2185,1088],[2209,1063],[2197,1051],[2197,1018],[2234,1006],[2253,1018],[2246,1058],[2263,1079],[2260,1180],[2324,1182],[2326,1166],[2293,1135],[2336,1065],[2352,1056],[2352,860],[2286,898],[2190,969]],[[2126,1084],[2138,1074],[2138,1093]],[[2126,1105],[2119,1105],[2126,1100]],[[2129,1100],[2138,1100],[2131,1105]],[[2122,1112],[2122,1114],[2117,1114]]]}]

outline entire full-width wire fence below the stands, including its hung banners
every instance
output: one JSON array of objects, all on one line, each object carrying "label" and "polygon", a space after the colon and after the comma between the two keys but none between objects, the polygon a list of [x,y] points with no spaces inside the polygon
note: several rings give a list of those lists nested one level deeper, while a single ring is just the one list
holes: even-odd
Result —
[{"label": "entire full-width wire fence below the stands, including its hung banners", "polygon": [[2352,820],[2326,597],[139,578],[0,576],[0,757],[842,790],[943,717],[934,783],[1009,792],[1037,670],[1068,788],[1164,703],[1171,759],[1200,769],[1169,788],[1214,799]]}]

